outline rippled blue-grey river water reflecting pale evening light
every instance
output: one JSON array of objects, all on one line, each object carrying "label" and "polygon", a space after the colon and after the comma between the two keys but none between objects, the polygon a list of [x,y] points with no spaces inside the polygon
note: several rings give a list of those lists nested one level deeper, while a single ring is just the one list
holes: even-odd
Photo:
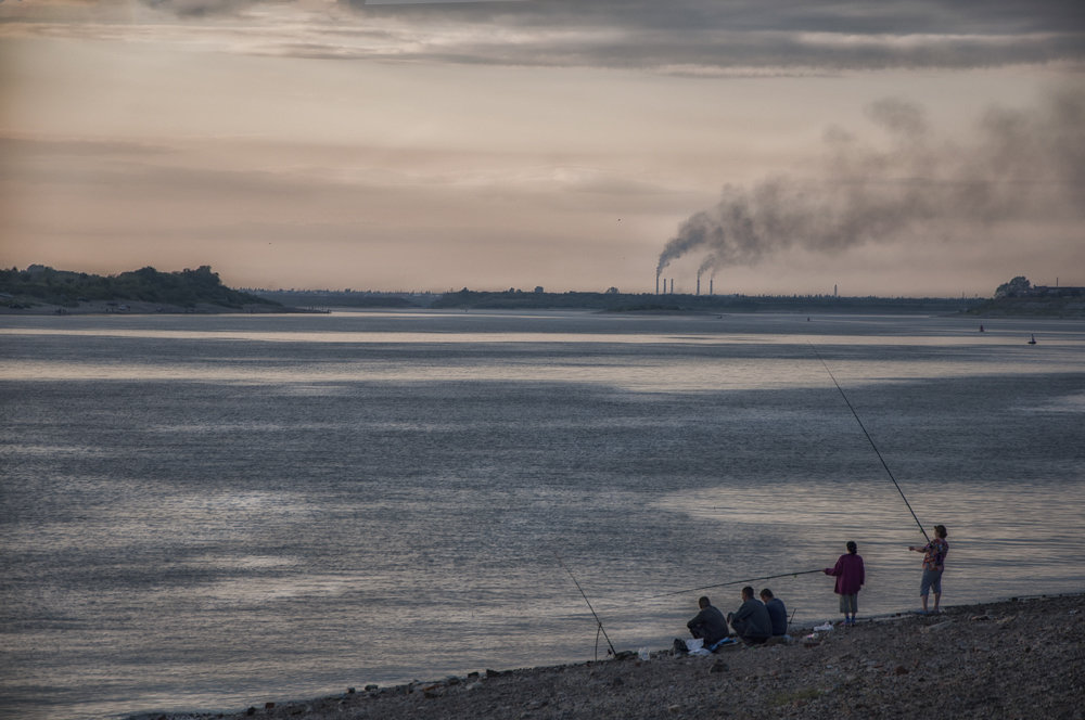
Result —
[{"label": "rippled blue-grey river water reflecting pale evening light", "polygon": [[[2,317],[0,717],[602,657],[558,557],[620,651],[847,540],[860,618],[909,610],[905,498],[946,604],[1081,592],[1085,323],[979,322]],[[837,617],[831,578],[752,584]]]}]

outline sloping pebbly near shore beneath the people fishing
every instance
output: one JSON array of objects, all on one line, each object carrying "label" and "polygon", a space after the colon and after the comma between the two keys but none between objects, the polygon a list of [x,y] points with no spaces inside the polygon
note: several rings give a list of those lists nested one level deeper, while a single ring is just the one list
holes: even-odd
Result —
[{"label": "sloping pebbly near shore beneath the people fishing", "polygon": [[697,657],[653,651],[559,667],[485,670],[307,702],[130,720],[590,718],[1085,719],[1085,595],[895,615],[787,645]]}]

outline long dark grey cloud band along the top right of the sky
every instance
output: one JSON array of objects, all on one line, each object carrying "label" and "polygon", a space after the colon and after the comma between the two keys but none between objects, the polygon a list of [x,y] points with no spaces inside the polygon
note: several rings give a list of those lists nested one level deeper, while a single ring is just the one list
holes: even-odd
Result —
[{"label": "long dark grey cloud band along the top right of the sky", "polygon": [[[143,0],[184,15],[275,0]],[[1085,60],[1085,3],[1064,0],[340,0],[358,35],[266,52],[309,57],[748,74],[990,67]],[[373,43],[374,31],[400,40]],[[335,37],[327,35],[334,33]],[[326,34],[326,35],[321,35]],[[349,33],[347,33],[349,34]]]}]

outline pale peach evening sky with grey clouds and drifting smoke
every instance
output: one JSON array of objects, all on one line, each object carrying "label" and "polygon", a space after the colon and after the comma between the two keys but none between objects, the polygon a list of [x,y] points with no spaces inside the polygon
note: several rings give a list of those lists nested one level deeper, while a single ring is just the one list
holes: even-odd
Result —
[{"label": "pale peach evening sky with grey clouds and drifting smoke", "polygon": [[0,0],[0,267],[1085,285],[1083,69],[1070,0]]}]

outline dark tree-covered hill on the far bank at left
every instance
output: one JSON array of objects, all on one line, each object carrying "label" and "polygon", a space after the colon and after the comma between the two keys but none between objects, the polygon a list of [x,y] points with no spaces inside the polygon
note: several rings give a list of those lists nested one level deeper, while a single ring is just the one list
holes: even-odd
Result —
[{"label": "dark tree-covered hill on the far bank at left", "polygon": [[105,277],[41,265],[31,265],[26,270],[0,270],[0,305],[9,308],[29,309],[37,304],[78,308],[94,303],[149,303],[182,309],[281,308],[273,300],[227,287],[209,266],[179,272],[158,272],[149,267]]}]

